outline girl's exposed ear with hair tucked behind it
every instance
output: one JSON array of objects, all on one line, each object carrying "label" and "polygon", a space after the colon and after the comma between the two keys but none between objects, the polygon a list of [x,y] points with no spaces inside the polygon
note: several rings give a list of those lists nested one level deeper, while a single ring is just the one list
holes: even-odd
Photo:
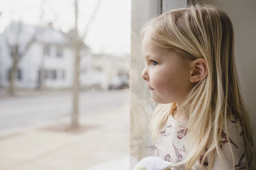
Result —
[{"label": "girl's exposed ear with hair tucked behind it", "polygon": [[204,58],[198,58],[191,62],[191,73],[189,80],[193,83],[200,82],[206,78],[208,68]]}]

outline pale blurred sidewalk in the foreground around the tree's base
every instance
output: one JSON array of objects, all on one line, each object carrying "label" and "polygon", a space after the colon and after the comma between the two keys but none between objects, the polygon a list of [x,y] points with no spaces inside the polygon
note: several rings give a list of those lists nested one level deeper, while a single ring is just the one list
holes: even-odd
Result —
[{"label": "pale blurred sidewalk in the foreground around the tree's base", "polygon": [[77,134],[45,124],[0,136],[0,170],[129,169],[128,110],[81,117]]}]

